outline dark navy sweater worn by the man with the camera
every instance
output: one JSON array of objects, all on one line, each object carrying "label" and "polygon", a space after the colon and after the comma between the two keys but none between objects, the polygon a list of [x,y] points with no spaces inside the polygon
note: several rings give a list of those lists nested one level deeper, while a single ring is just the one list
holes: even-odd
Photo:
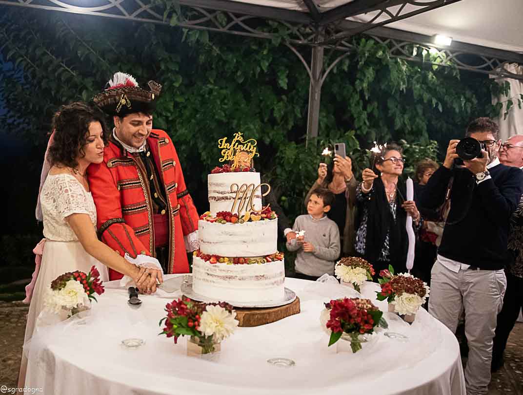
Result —
[{"label": "dark navy sweater worn by the man with the camera", "polygon": [[418,199],[422,208],[438,208],[454,176],[450,212],[438,254],[482,270],[499,270],[511,259],[507,251],[508,225],[523,194],[523,172],[503,164],[488,171],[492,178],[477,184],[469,170],[441,166]]}]

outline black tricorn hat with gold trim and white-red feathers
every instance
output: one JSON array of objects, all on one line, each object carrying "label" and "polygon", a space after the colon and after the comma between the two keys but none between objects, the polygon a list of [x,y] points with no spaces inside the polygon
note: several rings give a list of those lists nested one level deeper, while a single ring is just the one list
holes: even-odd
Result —
[{"label": "black tricorn hat with gold trim and white-red feathers", "polygon": [[132,113],[151,113],[162,86],[149,81],[150,91],[138,86],[136,80],[126,73],[115,73],[107,83],[109,87],[93,98],[93,103],[108,115],[126,116]]}]

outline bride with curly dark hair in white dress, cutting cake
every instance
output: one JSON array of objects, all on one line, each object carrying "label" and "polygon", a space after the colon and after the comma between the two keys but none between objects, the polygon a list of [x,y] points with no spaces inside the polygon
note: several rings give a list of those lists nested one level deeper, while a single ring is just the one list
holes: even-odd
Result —
[{"label": "bride with curly dark hair in white dress, cutting cake", "polygon": [[[82,102],[64,105],[54,115],[53,129],[46,153],[51,169],[39,197],[46,238],[32,290],[24,344],[35,330],[46,289],[65,272],[88,273],[94,265],[101,273],[100,278],[107,280],[106,267],[110,267],[129,276],[140,291],[149,294],[155,292],[157,281],[163,282],[163,272],[160,265],[154,263],[155,258],[145,266],[135,266],[100,242],[96,235],[96,207],[85,171],[90,163],[104,159],[107,142],[104,114]],[[29,298],[31,290],[28,291]],[[26,364],[22,356],[21,387],[24,387]]]}]

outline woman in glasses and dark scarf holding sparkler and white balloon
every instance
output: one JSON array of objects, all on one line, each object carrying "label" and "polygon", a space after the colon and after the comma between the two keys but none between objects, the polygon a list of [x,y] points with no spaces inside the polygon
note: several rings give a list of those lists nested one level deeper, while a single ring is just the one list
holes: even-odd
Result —
[{"label": "woman in glasses and dark scarf holding sparkler and white balloon", "polygon": [[377,154],[376,170],[362,173],[363,182],[356,188],[358,219],[356,252],[368,260],[378,276],[389,264],[396,273],[406,271],[408,249],[406,216],[418,227],[421,216],[413,200],[405,200],[406,187],[399,179],[403,173],[401,148],[388,144]]}]

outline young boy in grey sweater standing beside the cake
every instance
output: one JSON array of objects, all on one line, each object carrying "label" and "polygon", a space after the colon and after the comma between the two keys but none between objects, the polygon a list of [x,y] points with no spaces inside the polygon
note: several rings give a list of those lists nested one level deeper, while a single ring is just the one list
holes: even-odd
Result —
[{"label": "young boy in grey sweater standing beside the cake", "polygon": [[339,230],[336,222],[326,216],[333,202],[331,191],[317,188],[307,204],[309,214],[294,221],[292,231],[302,235],[287,242],[287,249],[298,250],[294,269],[299,279],[316,281],[325,273],[334,274],[334,262],[340,250]]}]

